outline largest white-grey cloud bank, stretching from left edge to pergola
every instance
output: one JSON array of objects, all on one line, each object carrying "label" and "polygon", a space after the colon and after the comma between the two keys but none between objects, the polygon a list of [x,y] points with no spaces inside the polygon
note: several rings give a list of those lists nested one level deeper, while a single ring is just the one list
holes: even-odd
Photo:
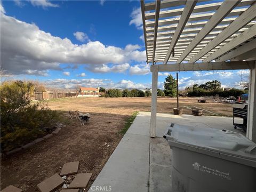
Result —
[{"label": "largest white-grey cloud bank, stretching from left edge to pergola", "polygon": [[91,68],[111,63],[116,71],[118,65],[123,68],[123,63],[131,60],[146,60],[146,51],[137,49],[139,45],[127,45],[122,49],[99,41],[73,44],[68,38],[40,30],[34,23],[1,13],[1,68],[12,74],[26,74],[26,70],[61,70],[60,63],[89,64]]}]

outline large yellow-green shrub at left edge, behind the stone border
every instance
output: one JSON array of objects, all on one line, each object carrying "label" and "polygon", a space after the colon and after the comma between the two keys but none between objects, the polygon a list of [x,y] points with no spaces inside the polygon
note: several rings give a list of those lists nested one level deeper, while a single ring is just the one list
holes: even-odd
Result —
[{"label": "large yellow-green shrub at left edge, behind the stone border", "polygon": [[1,85],[1,152],[25,145],[45,134],[59,120],[45,101],[31,104],[34,86],[11,81]]}]

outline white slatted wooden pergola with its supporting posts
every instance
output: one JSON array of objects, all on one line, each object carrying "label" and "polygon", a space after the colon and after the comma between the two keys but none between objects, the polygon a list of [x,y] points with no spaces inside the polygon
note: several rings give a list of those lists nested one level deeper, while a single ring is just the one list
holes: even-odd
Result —
[{"label": "white slatted wooden pergola with its supporting posts", "polygon": [[250,69],[247,137],[256,142],[256,1],[141,1],[141,14],[153,72],[151,137],[158,71]]}]

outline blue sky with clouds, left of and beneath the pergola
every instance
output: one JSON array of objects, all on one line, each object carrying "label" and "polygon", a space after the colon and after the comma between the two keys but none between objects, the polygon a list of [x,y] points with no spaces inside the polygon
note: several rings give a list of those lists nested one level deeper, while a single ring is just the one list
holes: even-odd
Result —
[{"label": "blue sky with clouds, left of and beneath the pergola", "polygon": [[[2,1],[1,69],[48,86],[151,86],[139,1]],[[171,73],[175,75],[175,73]],[[159,73],[163,87],[168,73]],[[218,79],[238,87],[248,71],[179,73],[180,88]]]}]

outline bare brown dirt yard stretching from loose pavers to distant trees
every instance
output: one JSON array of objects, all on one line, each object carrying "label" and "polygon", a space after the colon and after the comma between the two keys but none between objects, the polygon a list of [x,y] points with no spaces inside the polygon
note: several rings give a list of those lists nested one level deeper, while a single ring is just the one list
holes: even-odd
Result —
[{"label": "bare brown dirt yard stretching from loose pavers to distant trees", "polygon": [[[151,98],[64,98],[50,100],[49,107],[62,112],[66,127],[57,135],[37,143],[17,154],[2,158],[1,189],[14,185],[24,191],[36,191],[36,185],[54,173],[60,173],[64,163],[79,161],[79,173],[93,173],[90,185],[97,177],[122,135],[126,119],[134,111],[150,111]],[[172,113],[176,100],[158,98],[157,111]],[[183,113],[187,107],[199,107],[218,115],[231,116],[232,105],[198,103],[197,98],[180,98]],[[77,119],[69,119],[69,110],[90,113],[90,124],[82,126]],[[203,112],[204,115],[213,115]],[[107,145],[106,145],[107,142]],[[108,147],[109,145],[109,147]],[[89,186],[90,186],[89,185]],[[89,188],[89,187],[88,187]]]}]

